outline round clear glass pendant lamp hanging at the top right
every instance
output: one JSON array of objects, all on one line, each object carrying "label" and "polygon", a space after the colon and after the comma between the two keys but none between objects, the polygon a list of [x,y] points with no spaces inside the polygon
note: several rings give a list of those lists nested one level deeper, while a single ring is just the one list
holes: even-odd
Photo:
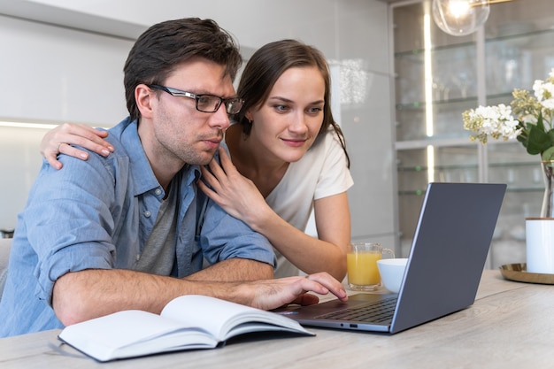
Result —
[{"label": "round clear glass pendant lamp hanging at the top right", "polygon": [[489,18],[489,0],[433,0],[433,19],[449,35],[473,34]]}]

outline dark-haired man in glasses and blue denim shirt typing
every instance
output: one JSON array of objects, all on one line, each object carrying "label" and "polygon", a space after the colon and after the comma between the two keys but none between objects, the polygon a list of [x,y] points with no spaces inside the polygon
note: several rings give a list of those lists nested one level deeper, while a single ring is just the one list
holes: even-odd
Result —
[{"label": "dark-haired man in glasses and blue denim shirt typing", "polygon": [[[327,273],[273,278],[271,244],[197,191],[240,110],[241,56],[212,20],[150,27],[129,53],[130,116],[110,130],[115,152],[46,163],[19,216],[0,301],[0,336],[64,327],[114,311],[158,313],[201,294],[272,309],[313,290],[346,298]],[[211,266],[202,269],[203,260]],[[250,281],[239,283],[237,281]]]}]

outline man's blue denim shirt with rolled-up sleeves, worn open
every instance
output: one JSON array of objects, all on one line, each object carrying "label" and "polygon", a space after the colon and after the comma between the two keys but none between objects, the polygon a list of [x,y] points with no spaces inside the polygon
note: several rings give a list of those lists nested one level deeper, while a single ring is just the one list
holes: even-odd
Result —
[{"label": "man's blue denim shirt with rolled-up sleeves, worn open", "polygon": [[[115,152],[87,161],[44,161],[19,214],[8,279],[0,301],[0,337],[63,327],[51,308],[54,282],[84,269],[134,269],[150,235],[164,189],[142,149],[136,121],[109,130]],[[267,239],[223,211],[196,187],[200,170],[186,165],[176,229],[173,275],[184,277],[229,258],[274,265]],[[188,210],[195,213],[189,213]]]}]

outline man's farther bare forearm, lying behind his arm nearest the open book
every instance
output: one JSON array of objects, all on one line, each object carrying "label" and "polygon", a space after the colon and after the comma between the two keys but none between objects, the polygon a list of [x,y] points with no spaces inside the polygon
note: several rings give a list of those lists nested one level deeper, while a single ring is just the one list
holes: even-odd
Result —
[{"label": "man's farther bare forearm, lying behind his arm nearest the open book", "polygon": [[256,260],[232,258],[186,277],[189,281],[258,281],[273,279],[273,266]]}]

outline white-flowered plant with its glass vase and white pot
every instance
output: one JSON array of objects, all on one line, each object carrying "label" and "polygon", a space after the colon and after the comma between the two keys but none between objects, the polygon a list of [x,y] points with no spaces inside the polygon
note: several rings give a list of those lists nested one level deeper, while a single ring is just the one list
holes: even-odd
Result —
[{"label": "white-flowered plant with its glass vase and white pot", "polygon": [[464,111],[470,139],[487,143],[489,137],[517,139],[530,155],[540,155],[544,196],[538,218],[526,219],[527,271],[554,273],[554,68],[545,80],[533,84],[533,94],[514,88],[509,106],[479,106]]}]

